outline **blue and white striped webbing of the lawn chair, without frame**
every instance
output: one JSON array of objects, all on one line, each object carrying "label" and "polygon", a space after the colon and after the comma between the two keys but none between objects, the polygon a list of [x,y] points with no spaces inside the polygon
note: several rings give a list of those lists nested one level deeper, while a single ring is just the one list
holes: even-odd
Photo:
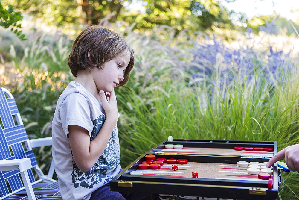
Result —
[{"label": "blue and white striped webbing of the lawn chair, without frame", "polygon": [[[29,140],[16,102],[13,96],[2,88],[0,88],[0,126],[0,160],[30,158],[32,167],[36,167],[37,162],[32,149],[23,147]],[[57,181],[50,184],[42,183],[42,180],[35,180],[32,168],[27,171],[30,182],[35,183],[32,187],[36,199],[62,199]],[[21,180],[18,170],[0,172],[0,199],[3,197],[28,199]]]}]

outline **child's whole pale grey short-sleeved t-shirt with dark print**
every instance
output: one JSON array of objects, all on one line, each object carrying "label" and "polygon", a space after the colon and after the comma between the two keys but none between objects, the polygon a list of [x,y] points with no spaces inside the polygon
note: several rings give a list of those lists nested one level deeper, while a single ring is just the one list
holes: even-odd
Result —
[{"label": "child's whole pale grey short-sleeved t-shirt with dark print", "polygon": [[80,170],[71,152],[68,125],[85,128],[93,140],[106,117],[102,103],[82,85],[71,81],[58,99],[52,121],[52,154],[63,199],[89,199],[91,193],[114,178],[120,170],[117,126],[94,166]]}]

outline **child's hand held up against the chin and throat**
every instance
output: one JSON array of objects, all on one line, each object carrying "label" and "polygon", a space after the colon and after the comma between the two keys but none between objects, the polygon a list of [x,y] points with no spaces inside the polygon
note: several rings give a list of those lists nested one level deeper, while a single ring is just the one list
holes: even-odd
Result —
[{"label": "child's hand held up against the chin and throat", "polygon": [[[106,112],[106,118],[111,117],[117,121],[117,101],[114,93],[114,88],[112,89],[110,94],[107,95],[104,93],[103,90],[100,90],[100,97],[103,104],[103,108]],[[109,97],[109,101],[107,100],[107,97]]]}]

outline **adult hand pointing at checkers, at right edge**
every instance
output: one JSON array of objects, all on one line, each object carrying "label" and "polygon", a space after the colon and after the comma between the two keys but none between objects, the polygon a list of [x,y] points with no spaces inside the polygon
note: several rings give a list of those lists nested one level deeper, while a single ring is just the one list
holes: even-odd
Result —
[{"label": "adult hand pointing at checkers, at right edge", "polygon": [[268,161],[267,167],[272,166],[274,163],[282,160],[283,158],[285,158],[286,165],[289,169],[294,172],[299,172],[299,144],[288,146],[279,151]]}]

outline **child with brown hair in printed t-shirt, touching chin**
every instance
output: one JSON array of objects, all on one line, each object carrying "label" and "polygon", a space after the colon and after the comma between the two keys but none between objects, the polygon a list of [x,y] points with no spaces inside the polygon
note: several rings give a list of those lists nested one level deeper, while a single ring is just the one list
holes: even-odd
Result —
[{"label": "child with brown hair in printed t-shirt, touching chin", "polygon": [[74,41],[68,66],[76,78],[59,97],[52,122],[63,199],[123,198],[103,186],[121,170],[114,87],[126,84],[133,65],[133,50],[109,29],[91,26]]}]

